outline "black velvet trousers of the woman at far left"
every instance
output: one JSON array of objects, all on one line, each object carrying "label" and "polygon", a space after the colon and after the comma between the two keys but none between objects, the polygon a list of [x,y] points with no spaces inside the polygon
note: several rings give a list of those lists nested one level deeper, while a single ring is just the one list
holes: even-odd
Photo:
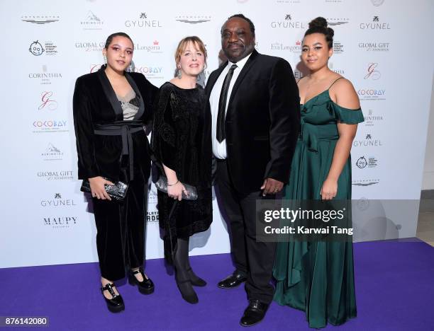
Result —
[{"label": "black velvet trousers of the woman at far left", "polygon": [[141,267],[145,260],[148,181],[137,172],[123,203],[96,198],[92,201],[101,276],[111,281],[122,279],[126,269]]}]

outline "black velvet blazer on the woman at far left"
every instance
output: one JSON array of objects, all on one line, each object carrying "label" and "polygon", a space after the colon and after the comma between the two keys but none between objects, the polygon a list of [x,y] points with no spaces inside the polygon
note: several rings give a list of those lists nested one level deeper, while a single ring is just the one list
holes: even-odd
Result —
[{"label": "black velvet blazer on the woman at far left", "polygon": [[[158,88],[143,74],[126,73],[131,87],[139,96],[142,110],[135,121],[150,124],[152,105]],[[77,79],[73,97],[74,129],[77,141],[78,178],[104,176],[118,180],[121,168],[123,141],[120,135],[97,135],[94,129],[99,124],[123,121],[121,104],[116,98],[104,67],[96,73],[86,74]],[[135,167],[140,167],[148,178],[150,175],[150,148],[145,130],[131,134]]]}]

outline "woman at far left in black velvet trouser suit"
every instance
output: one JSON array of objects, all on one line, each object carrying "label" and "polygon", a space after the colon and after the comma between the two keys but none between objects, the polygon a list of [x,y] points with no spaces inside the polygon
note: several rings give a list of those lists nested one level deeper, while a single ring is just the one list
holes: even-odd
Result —
[{"label": "woman at far left in black velvet trouser suit", "polygon": [[[126,72],[134,45],[114,33],[103,50],[107,64],[77,79],[74,128],[79,179],[89,179],[96,222],[101,291],[111,312],[125,308],[113,281],[125,277],[143,294],[154,284],[143,272],[150,149],[145,124],[152,119],[157,88],[143,74]],[[128,183],[124,202],[113,201],[104,185]]]}]

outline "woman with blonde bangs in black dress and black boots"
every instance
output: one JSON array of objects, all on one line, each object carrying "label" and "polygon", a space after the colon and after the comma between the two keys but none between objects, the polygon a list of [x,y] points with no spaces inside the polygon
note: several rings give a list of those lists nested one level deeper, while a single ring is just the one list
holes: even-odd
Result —
[{"label": "woman with blonde bangs in black dress and black boots", "polygon": [[[158,192],[160,227],[165,230],[165,257],[173,263],[182,298],[197,303],[192,286],[206,282],[189,264],[189,237],[212,221],[211,118],[204,89],[196,84],[206,50],[199,37],[186,37],[175,53],[177,75],[160,88],[152,131],[152,150],[167,177],[167,194]],[[198,199],[182,199],[183,184],[196,187]]]}]

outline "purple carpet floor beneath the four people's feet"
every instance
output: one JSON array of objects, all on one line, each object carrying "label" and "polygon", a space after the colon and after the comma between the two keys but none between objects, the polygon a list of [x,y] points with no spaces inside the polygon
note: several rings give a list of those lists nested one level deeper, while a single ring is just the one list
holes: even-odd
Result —
[{"label": "purple carpet floor beneath the four people's feet", "polygon": [[[327,329],[434,330],[434,248],[422,242],[357,243],[354,254],[358,316]],[[96,263],[0,269],[0,315],[47,316],[52,330],[245,330],[238,325],[247,305],[243,286],[216,286],[233,271],[230,255],[191,257],[191,265],[208,281],[196,289],[198,304],[182,300],[163,260],[149,260],[155,293],[144,296],[118,284],[126,310],[116,315],[101,298]],[[272,303],[265,320],[250,330],[308,325],[303,312]]]}]

